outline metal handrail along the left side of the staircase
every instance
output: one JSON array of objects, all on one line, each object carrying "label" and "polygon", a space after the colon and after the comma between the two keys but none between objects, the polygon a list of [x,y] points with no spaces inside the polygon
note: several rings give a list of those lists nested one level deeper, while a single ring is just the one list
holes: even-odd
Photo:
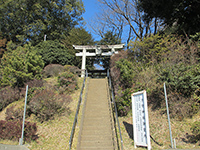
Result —
[{"label": "metal handrail along the left side of the staircase", "polygon": [[70,140],[69,140],[69,150],[71,150],[71,147],[72,147],[75,126],[76,126],[76,123],[77,123],[78,113],[79,113],[79,109],[80,109],[80,104],[82,102],[82,95],[83,95],[83,90],[85,88],[85,81],[86,81],[87,77],[88,77],[88,73],[87,73],[87,70],[85,70],[84,81],[83,81],[83,85],[82,85],[82,88],[81,88],[81,92],[80,92],[80,96],[79,96],[79,101],[78,101],[78,105],[77,105],[77,108],[76,108],[76,115],[75,115],[75,118],[74,118],[74,123],[73,123],[72,131],[71,131],[71,136],[70,136]]}]

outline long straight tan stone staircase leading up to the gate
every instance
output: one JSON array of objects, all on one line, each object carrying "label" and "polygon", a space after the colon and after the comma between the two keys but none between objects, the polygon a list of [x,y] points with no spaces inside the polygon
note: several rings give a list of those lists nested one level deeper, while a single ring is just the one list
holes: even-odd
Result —
[{"label": "long straight tan stone staircase leading up to the gate", "polygon": [[79,132],[78,150],[113,150],[107,79],[89,79]]}]

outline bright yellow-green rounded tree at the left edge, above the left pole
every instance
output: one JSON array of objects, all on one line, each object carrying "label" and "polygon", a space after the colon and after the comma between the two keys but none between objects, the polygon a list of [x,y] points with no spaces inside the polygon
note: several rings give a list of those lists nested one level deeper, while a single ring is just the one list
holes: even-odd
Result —
[{"label": "bright yellow-green rounded tree at the left edge, above the left pole", "polygon": [[[12,43],[10,43],[12,44]],[[25,82],[41,77],[44,63],[33,47],[28,44],[3,55],[0,64],[0,85],[21,87]]]}]

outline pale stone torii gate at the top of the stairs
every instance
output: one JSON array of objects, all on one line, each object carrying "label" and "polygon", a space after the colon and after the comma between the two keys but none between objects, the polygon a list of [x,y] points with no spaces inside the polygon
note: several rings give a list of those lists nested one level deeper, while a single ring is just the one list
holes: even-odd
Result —
[{"label": "pale stone torii gate at the top of the stairs", "polygon": [[[117,54],[119,49],[124,47],[124,44],[117,45],[73,45],[74,49],[82,52],[76,53],[76,56],[82,56],[82,74],[81,77],[84,77],[85,74],[85,65],[86,65],[86,57],[92,56],[112,56],[113,54]],[[90,51],[90,52],[89,52]]]}]

